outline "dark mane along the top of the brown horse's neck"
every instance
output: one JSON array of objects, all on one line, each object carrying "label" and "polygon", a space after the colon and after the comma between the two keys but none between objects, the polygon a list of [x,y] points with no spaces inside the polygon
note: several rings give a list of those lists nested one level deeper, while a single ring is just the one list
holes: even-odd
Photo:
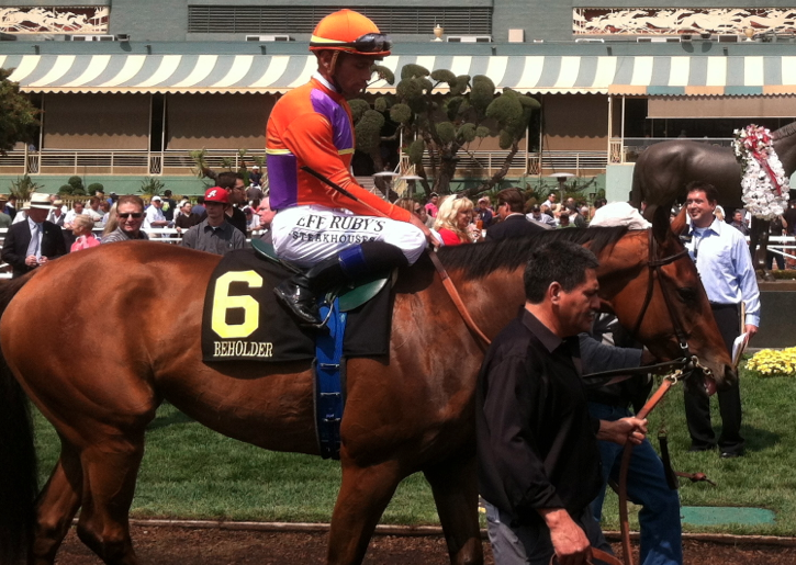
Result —
[{"label": "dark mane along the top of the brown horse's neck", "polygon": [[563,239],[579,245],[588,242],[592,252],[598,256],[625,234],[625,226],[551,229],[525,238],[442,247],[439,259],[447,269],[461,271],[466,279],[481,279],[497,269],[519,269],[528,261],[532,249],[549,241]]}]

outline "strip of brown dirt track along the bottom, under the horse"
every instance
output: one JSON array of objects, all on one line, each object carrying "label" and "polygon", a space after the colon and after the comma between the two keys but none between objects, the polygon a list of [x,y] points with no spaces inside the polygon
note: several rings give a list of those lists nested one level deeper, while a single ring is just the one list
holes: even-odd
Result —
[{"label": "strip of brown dirt track along the bottom, under the horse", "polygon": [[[325,532],[261,532],[181,527],[132,528],[133,542],[143,565],[322,565],[326,555]],[[614,544],[618,551],[618,544]],[[484,543],[486,564],[493,565]],[[69,532],[56,560],[58,565],[100,565],[100,561]],[[441,536],[377,535],[370,544],[368,565],[448,565]],[[732,546],[685,542],[686,565],[793,565],[796,547],[772,545]]]}]

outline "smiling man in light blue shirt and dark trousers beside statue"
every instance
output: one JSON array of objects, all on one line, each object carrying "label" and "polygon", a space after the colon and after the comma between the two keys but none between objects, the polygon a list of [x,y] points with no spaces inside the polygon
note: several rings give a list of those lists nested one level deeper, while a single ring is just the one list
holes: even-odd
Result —
[{"label": "smiling man in light blue shirt and dark trousers beside statue", "polygon": [[[744,332],[754,337],[760,326],[760,291],[747,241],[740,231],[720,222],[715,215],[718,191],[707,182],[692,182],[687,187],[685,206],[690,226],[686,248],[696,263],[699,279],[710,301],[710,308],[727,351],[741,325],[741,303],[745,304]],[[685,419],[691,433],[691,451],[716,448],[716,436],[710,425],[710,404],[705,394],[686,389]],[[721,414],[721,434],[718,448],[722,459],[743,455],[741,437],[741,393],[736,382],[718,392]]]}]

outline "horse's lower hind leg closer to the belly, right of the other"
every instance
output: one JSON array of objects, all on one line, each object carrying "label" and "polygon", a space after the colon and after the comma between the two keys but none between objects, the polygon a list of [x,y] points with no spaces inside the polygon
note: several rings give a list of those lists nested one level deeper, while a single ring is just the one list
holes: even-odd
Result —
[{"label": "horse's lower hind leg closer to the belly, right of the other", "polygon": [[127,515],[144,455],[144,433],[106,440],[83,450],[83,497],[78,536],[108,565],[138,563]]}]

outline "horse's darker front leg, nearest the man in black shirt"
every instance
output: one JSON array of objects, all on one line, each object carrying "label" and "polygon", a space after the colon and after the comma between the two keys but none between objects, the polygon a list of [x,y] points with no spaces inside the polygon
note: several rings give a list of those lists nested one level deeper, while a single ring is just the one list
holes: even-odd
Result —
[{"label": "horse's darker front leg, nearest the man in black shirt", "polygon": [[481,565],[483,549],[478,520],[478,466],[474,454],[424,471],[431,485],[439,521],[453,565]]}]

